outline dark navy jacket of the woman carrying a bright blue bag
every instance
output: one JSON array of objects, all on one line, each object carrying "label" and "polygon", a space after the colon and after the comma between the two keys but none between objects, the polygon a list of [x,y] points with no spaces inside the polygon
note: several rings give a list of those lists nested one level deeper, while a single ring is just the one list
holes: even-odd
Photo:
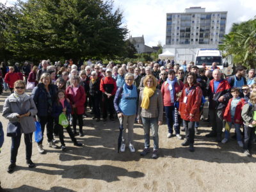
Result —
[{"label": "dark navy jacket of the woman carrying a bright blue bag", "polygon": [[56,100],[57,86],[55,84],[49,84],[49,92],[51,94],[51,103],[47,102],[47,92],[44,88],[44,83],[39,83],[31,93],[31,97],[38,110],[38,116],[48,116],[52,113],[52,104]]}]

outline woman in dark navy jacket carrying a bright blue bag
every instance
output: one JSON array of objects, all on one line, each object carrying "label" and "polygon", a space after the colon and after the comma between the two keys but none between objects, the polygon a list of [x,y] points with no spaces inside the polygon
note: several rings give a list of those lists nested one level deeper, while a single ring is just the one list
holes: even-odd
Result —
[{"label": "woman in dark navy jacket carrying a bright blue bag", "polygon": [[51,84],[51,76],[49,73],[44,73],[40,77],[40,83],[33,89],[31,97],[33,98],[36,108],[38,110],[37,119],[41,124],[43,138],[39,141],[38,152],[44,154],[45,150],[43,148],[44,140],[44,129],[46,125],[47,130],[47,140],[49,147],[58,148],[57,145],[53,143],[53,118],[52,118],[52,105],[56,99],[57,86]]}]

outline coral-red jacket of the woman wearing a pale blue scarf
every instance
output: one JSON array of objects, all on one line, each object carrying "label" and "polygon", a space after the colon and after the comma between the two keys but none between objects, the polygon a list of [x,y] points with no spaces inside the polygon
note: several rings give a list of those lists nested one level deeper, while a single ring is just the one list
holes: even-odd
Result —
[{"label": "coral-red jacket of the woman wearing a pale blue scarf", "polygon": [[[178,80],[179,81],[179,80]],[[182,91],[184,87],[184,84],[182,83],[182,81],[179,81],[179,83],[175,83],[174,84],[174,88],[175,88],[175,97],[174,100],[176,100],[176,93],[179,93],[180,91]],[[173,106],[173,102],[171,102],[171,94],[170,94],[170,90],[169,90],[169,84],[167,83],[167,81],[164,81],[162,88],[161,88],[161,92],[163,95],[163,101],[164,101],[164,106]]]}]

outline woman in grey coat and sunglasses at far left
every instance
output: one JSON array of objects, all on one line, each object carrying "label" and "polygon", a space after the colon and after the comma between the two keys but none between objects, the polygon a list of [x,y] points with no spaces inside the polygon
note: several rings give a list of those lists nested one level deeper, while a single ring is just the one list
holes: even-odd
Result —
[{"label": "woman in grey coat and sunglasses at far left", "polygon": [[3,116],[9,120],[9,124],[20,124],[17,136],[12,136],[11,164],[8,166],[8,173],[12,173],[16,166],[16,157],[22,133],[24,133],[26,145],[26,163],[29,168],[35,166],[31,161],[31,156],[32,135],[36,130],[33,116],[36,115],[37,109],[33,99],[25,93],[25,87],[26,83],[24,83],[24,81],[15,81],[14,93],[6,98],[3,106]]}]

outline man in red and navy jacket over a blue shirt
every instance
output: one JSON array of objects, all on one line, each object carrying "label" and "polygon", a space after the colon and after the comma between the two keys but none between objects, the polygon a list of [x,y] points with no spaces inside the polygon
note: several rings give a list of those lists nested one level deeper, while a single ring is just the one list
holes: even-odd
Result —
[{"label": "man in red and navy jacket over a blue shirt", "polygon": [[214,79],[209,84],[209,116],[212,125],[212,131],[205,136],[211,138],[217,136],[218,142],[221,142],[221,134],[223,129],[223,113],[227,106],[228,100],[232,97],[230,93],[230,85],[226,79],[221,78],[219,69],[212,72]]}]

